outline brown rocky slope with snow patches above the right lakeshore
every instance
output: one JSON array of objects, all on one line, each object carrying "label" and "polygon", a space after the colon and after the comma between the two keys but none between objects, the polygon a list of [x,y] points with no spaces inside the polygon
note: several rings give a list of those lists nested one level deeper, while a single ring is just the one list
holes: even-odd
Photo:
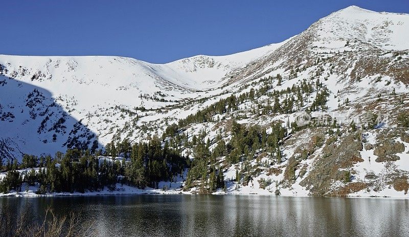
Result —
[{"label": "brown rocky slope with snow patches above the right lakeshore", "polygon": [[[400,128],[343,130],[339,135],[329,135],[320,127],[301,131],[285,144],[294,153],[285,163],[279,186],[299,184],[314,196],[344,197],[357,192],[377,196],[385,189],[406,193],[409,172],[404,163],[396,162],[406,159],[406,139],[406,131]],[[371,159],[373,155],[376,162],[383,162],[382,168],[375,157]]]}]

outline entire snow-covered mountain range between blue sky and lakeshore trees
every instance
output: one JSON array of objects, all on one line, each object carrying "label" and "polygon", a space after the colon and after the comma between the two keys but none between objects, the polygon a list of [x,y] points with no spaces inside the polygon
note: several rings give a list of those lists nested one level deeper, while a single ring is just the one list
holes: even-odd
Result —
[{"label": "entire snow-covered mountain range between blue sky and lakeshore trees", "polygon": [[[6,141],[0,149],[7,159],[20,159],[9,151],[21,155],[27,144],[35,144],[35,155],[53,155],[66,144],[100,149],[162,137],[194,161],[193,137],[199,137],[209,152],[222,142],[229,150],[201,167],[206,174],[213,166],[223,170],[228,193],[407,197],[402,177],[409,175],[409,135],[401,115],[409,107],[408,16],[379,17],[351,6],[278,44],[165,64],[0,55],[0,92],[9,95],[0,97],[0,123],[10,127],[7,133],[0,128]],[[71,122],[55,125],[64,113]],[[311,123],[298,126],[300,114]],[[373,124],[368,117],[377,114],[387,118]],[[58,125],[66,126],[66,135],[55,140],[43,131]],[[288,136],[274,138],[277,126]],[[25,139],[31,130],[37,132]],[[262,145],[238,146],[237,130],[243,137],[259,133]],[[189,170],[185,188],[206,192],[201,174]]]}]

